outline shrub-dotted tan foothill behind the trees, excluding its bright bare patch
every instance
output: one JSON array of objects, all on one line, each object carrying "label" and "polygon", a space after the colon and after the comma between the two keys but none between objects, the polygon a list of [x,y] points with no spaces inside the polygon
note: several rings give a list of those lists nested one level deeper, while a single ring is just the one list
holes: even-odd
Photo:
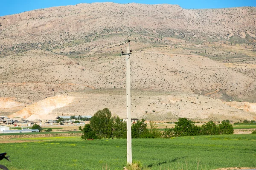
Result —
[{"label": "shrub-dotted tan foothill behind the trees, excluding its bright bare patch", "polygon": [[[55,109],[52,113],[86,113],[93,116],[96,111],[109,108],[113,115],[126,117],[125,89],[95,90],[73,92],[75,100],[70,105]],[[256,113],[250,113],[238,108],[229,107],[220,99],[207,96],[170,92],[165,95],[154,91],[132,91],[132,117],[146,118],[147,120],[169,121],[186,117],[194,120],[220,121],[230,119],[240,121],[252,120]]]}]

